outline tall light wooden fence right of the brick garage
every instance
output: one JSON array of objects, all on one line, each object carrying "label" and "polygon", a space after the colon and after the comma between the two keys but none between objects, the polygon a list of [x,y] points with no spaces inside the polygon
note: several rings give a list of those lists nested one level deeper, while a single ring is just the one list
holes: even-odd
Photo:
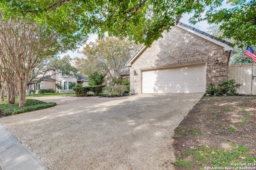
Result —
[{"label": "tall light wooden fence right of the brick garage", "polygon": [[256,64],[232,64],[228,66],[228,80],[242,84],[239,94],[256,95]]}]

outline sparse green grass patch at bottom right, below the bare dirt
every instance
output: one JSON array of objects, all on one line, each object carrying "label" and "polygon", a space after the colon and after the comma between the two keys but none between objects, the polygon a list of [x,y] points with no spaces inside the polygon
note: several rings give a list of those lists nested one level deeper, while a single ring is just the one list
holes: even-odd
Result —
[{"label": "sparse green grass patch at bottom right, below the bare dirt", "polygon": [[[231,144],[231,143],[230,143]],[[232,146],[236,146],[235,144]],[[254,163],[256,161],[255,157],[250,155],[250,149],[244,145],[237,145],[232,150],[219,149],[216,150],[213,147],[207,148],[205,146],[194,148],[191,150],[184,151],[181,154],[189,155],[191,159],[183,158],[174,162],[175,166],[179,166],[180,169],[190,170],[193,167],[198,169],[204,169],[206,164],[208,167],[239,167],[231,166],[230,162],[239,163]],[[241,166],[240,166],[241,167]],[[242,166],[244,167],[244,166]]]}]

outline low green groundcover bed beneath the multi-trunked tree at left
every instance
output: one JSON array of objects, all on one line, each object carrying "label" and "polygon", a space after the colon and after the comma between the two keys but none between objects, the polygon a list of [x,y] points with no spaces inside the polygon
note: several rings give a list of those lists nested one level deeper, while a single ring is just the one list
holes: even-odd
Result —
[{"label": "low green groundcover bed beneath the multi-trunked tree at left", "polygon": [[26,106],[24,107],[19,107],[19,103],[16,101],[15,104],[7,104],[7,101],[1,102],[0,103],[0,112],[2,115],[16,115],[19,113],[25,113],[28,111],[35,111],[39,109],[45,109],[48,107],[53,107],[55,106],[55,102],[42,102],[39,100],[34,100],[34,99],[26,99]]}]

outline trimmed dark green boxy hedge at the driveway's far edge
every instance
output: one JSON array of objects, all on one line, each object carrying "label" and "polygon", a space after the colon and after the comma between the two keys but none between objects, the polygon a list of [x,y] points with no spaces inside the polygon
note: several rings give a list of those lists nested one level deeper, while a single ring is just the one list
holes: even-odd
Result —
[{"label": "trimmed dark green boxy hedge at the driveway's far edge", "polygon": [[74,87],[73,90],[78,97],[85,97],[88,94],[94,93],[96,96],[102,92],[102,88],[105,86],[84,86],[84,87]]}]

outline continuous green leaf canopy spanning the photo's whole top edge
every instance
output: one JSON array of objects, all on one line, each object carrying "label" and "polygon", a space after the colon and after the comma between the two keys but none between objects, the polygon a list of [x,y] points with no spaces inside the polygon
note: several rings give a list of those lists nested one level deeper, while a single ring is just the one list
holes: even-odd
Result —
[{"label": "continuous green leaf canopy spanning the photo's whole top edge", "polygon": [[[230,8],[220,9],[225,3]],[[175,25],[182,14],[191,12],[190,23],[221,23],[224,35],[237,45],[255,44],[255,7],[255,0],[1,0],[0,4],[6,17],[32,17],[72,40],[75,36],[82,41],[90,33],[102,37],[108,32],[109,36],[129,37],[147,46],[161,37],[164,29]],[[74,48],[75,43],[69,46]]]}]

